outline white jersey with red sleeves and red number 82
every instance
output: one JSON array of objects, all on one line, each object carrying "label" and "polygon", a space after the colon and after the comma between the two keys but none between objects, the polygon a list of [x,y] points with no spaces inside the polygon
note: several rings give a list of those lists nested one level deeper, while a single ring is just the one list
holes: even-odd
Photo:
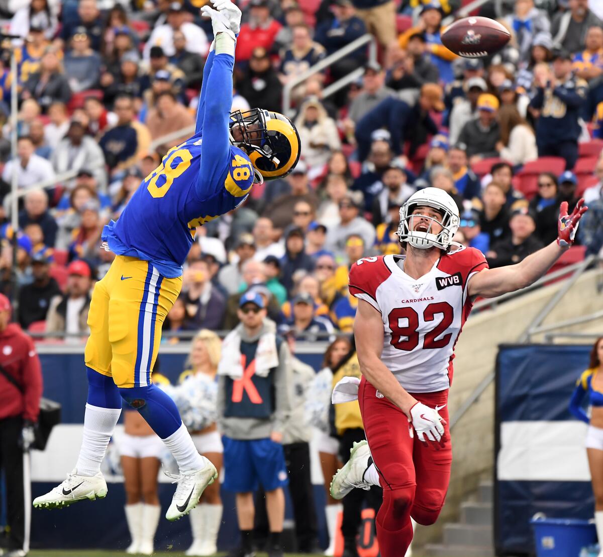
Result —
[{"label": "white jersey with red sleeves and red number 82", "polygon": [[450,387],[456,339],[473,306],[467,283],[487,268],[475,248],[443,253],[431,271],[412,279],[404,256],[364,257],[350,269],[350,292],[380,312],[381,360],[410,393]]}]

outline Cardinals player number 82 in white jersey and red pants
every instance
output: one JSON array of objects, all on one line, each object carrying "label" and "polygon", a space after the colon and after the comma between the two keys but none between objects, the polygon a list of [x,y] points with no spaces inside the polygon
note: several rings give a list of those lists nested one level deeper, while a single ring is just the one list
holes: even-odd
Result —
[{"label": "Cardinals player number 82 in white jersey and red pants", "polygon": [[[586,209],[581,199],[568,216],[567,203],[561,204],[557,242],[517,265],[488,269],[480,251],[452,242],[459,225],[453,199],[425,188],[400,208],[406,256],[364,257],[352,265],[358,401],[368,443],[354,446],[331,494],[341,499],[353,488],[383,488],[376,518],[382,557],[405,555],[411,517],[433,524],[444,504],[452,463],[453,350],[473,300],[525,288],[545,274],[572,245]],[[350,396],[350,382],[341,393]]]}]

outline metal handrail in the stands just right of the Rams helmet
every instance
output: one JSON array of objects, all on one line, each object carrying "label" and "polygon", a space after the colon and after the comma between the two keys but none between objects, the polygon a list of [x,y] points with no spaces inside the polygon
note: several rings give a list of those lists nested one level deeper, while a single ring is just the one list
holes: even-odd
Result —
[{"label": "metal handrail in the stands just right of the Rams helmet", "polygon": [[[368,45],[369,62],[376,62],[377,42],[373,35],[371,35],[370,33],[366,33],[362,35],[362,37],[358,37],[358,39],[350,42],[349,45],[346,45],[345,47],[340,48],[335,53],[330,54],[326,58],[323,58],[322,60],[320,60],[320,62],[315,63],[314,66],[311,66],[310,68],[306,69],[305,72],[301,72],[300,75],[292,78],[289,82],[287,82],[283,87],[283,114],[285,114],[286,116],[291,116],[291,91],[295,87],[300,85],[300,83],[305,82],[306,79],[308,79],[309,77],[314,76],[314,74],[317,74],[318,72],[323,71],[323,69],[328,68],[330,65],[332,65],[332,63],[338,62],[338,60],[341,60],[349,54],[352,54],[353,51],[364,47],[364,45]],[[339,89],[344,88],[346,85],[353,82],[353,80],[358,79],[358,77],[362,76],[363,73],[364,68],[356,68],[355,70],[347,74],[347,76],[344,76],[341,79],[338,79],[336,82],[331,83],[328,87],[324,88],[323,98],[329,97],[329,95],[332,95],[336,91],[339,91]]]}]

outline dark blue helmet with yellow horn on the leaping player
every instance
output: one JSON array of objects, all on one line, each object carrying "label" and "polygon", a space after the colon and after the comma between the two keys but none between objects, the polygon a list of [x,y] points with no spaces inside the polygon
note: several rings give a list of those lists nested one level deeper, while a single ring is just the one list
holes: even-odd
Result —
[{"label": "dark blue helmet with yellow horn on the leaping player", "polygon": [[[233,128],[242,138],[235,140]],[[265,180],[283,178],[300,158],[300,137],[295,126],[278,112],[254,108],[230,114],[230,141],[247,152],[254,169]]]}]

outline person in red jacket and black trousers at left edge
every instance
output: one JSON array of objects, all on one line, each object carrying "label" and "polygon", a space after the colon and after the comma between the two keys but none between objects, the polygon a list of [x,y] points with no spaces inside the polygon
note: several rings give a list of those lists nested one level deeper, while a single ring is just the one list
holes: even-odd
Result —
[{"label": "person in red jacket and black trousers at left edge", "polygon": [[[0,468],[6,477],[8,556],[27,555],[23,451],[33,442],[42,396],[40,360],[31,337],[10,321],[10,301],[0,294]],[[28,502],[28,504],[30,504]]]}]

